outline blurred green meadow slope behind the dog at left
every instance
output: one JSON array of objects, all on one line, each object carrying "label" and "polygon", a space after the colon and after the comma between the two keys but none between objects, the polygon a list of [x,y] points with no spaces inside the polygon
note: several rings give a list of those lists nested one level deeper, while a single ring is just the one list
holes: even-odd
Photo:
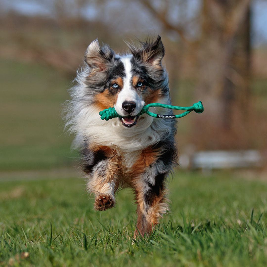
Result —
[{"label": "blurred green meadow slope behind the dog at left", "polygon": [[70,79],[37,64],[0,60],[0,169],[69,166],[70,151],[61,119]]}]

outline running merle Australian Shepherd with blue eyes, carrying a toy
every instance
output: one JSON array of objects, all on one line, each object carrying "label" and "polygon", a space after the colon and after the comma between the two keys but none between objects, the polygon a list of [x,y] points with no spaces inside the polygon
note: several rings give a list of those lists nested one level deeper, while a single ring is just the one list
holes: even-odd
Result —
[{"label": "running merle Australian Shepherd with blue eyes, carrying a toy", "polygon": [[[123,55],[97,40],[88,46],[84,66],[70,89],[66,125],[76,134],[74,143],[80,147],[96,210],[114,207],[118,189],[134,190],[136,236],[152,231],[168,210],[166,177],[176,164],[176,122],[138,116],[145,104],[170,104],[160,36],[140,42],[139,47],[127,45],[129,51]],[[99,112],[109,107],[122,118],[101,120]],[[162,108],[150,111],[172,114]]]}]

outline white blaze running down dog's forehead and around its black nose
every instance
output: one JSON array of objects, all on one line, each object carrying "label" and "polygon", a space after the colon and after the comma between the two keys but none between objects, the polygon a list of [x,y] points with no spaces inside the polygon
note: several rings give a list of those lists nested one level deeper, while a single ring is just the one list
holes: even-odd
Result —
[{"label": "white blaze running down dog's forehead and around its black nose", "polygon": [[122,103],[124,101],[135,102],[136,108],[135,108],[135,111],[133,112],[134,115],[137,115],[144,106],[144,101],[143,101],[142,97],[140,97],[138,95],[137,91],[132,88],[131,58],[132,58],[132,55],[120,57],[120,60],[124,66],[125,77],[123,78],[123,88],[121,89],[121,91],[118,94],[117,102],[114,105],[114,107],[115,107],[117,113],[121,116],[128,115],[125,112],[125,110],[122,108]]}]

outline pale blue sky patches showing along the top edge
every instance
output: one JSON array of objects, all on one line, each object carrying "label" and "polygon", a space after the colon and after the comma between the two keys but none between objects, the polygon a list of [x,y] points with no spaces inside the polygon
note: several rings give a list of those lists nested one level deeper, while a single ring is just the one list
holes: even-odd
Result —
[{"label": "pale blue sky patches showing along the top edge", "polygon": [[[190,13],[196,12],[199,0],[188,0],[189,16]],[[26,15],[47,15],[50,16],[50,9],[43,4],[44,1],[36,0],[2,0],[0,8],[4,11],[15,10]],[[113,1],[113,2],[116,2]],[[48,0],[49,3],[49,0]],[[92,2],[91,2],[92,3]],[[109,1],[111,3],[111,1]],[[83,10],[84,17],[93,19],[97,16],[93,4]],[[254,47],[267,44],[267,0],[252,1],[252,44]]]}]

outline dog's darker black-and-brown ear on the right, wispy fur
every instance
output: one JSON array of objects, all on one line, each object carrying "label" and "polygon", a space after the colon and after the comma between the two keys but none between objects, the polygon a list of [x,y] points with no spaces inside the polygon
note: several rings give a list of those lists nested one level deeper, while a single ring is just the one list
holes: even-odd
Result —
[{"label": "dog's darker black-and-brown ear on the right, wispy fur", "polygon": [[165,54],[161,37],[158,35],[155,41],[148,38],[146,42],[141,42],[141,44],[142,48],[139,50],[136,50],[133,46],[129,45],[133,56],[142,62],[146,62],[154,66],[161,66],[162,58]]}]

